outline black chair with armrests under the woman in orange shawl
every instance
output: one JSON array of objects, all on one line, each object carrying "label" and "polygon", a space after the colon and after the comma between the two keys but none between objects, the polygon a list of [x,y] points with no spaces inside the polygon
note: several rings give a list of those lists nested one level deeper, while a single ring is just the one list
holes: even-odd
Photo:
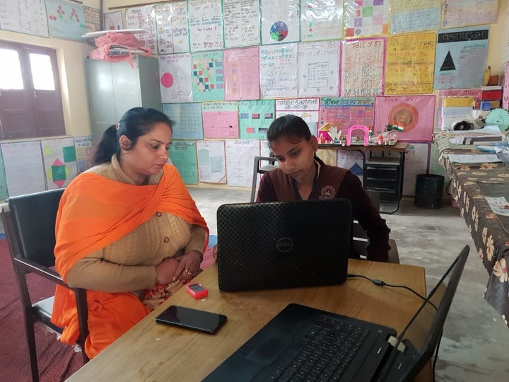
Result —
[{"label": "black chair with armrests under the woman in orange shawl", "polygon": [[39,380],[37,368],[37,349],[35,346],[34,324],[43,323],[49,328],[62,333],[62,328],[50,322],[54,297],[32,303],[28,290],[26,274],[32,272],[55,284],[72,289],[76,294],[78,322],[83,363],[88,361],[83,345],[88,336],[88,308],[86,290],[69,287],[60,275],[52,269],[55,264],[55,219],[60,197],[64,189],[37,192],[6,199],[1,208],[1,219],[4,224],[11,259],[23,303],[25,332],[30,354],[30,368],[33,381]]}]

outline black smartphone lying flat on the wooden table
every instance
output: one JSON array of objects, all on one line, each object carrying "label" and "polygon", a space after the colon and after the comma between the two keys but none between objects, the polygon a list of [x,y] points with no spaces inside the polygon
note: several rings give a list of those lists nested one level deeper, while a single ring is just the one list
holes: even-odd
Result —
[{"label": "black smartphone lying flat on the wooden table", "polygon": [[213,334],[226,323],[226,316],[220,313],[171,305],[156,317],[156,322]]}]

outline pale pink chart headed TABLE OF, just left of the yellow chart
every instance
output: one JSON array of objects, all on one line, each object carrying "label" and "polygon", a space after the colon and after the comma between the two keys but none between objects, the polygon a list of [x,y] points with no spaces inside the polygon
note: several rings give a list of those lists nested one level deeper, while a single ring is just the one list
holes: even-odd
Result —
[{"label": "pale pink chart headed TABLE OF, just left of the yellow chart", "polygon": [[342,97],[383,94],[385,37],[341,41]]}]

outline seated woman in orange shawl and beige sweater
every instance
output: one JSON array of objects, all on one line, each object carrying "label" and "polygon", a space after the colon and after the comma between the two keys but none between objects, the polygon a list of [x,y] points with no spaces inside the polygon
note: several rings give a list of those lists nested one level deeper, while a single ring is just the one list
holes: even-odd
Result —
[{"label": "seated woman in orange shawl and beige sweater", "polygon": [[[172,124],[158,110],[128,110],[103,134],[96,166],[62,195],[56,269],[87,289],[90,358],[200,272],[209,231],[168,163]],[[74,292],[57,287],[52,322],[76,343]]]}]

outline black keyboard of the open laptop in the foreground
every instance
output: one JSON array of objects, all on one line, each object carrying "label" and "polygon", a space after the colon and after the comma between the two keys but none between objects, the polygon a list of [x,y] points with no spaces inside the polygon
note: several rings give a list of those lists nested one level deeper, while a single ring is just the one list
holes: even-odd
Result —
[{"label": "black keyboard of the open laptop in the foreground", "polygon": [[265,381],[339,381],[370,330],[321,318],[302,337],[303,348],[289,363],[274,368]]}]

